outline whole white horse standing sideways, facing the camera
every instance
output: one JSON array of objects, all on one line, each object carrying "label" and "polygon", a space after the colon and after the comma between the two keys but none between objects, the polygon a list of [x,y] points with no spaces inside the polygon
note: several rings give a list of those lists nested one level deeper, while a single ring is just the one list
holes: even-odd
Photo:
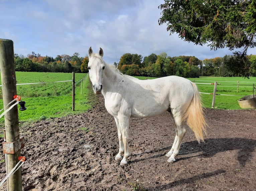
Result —
[{"label": "whole white horse standing sideways, facing the camera", "polygon": [[119,152],[115,160],[123,159],[120,165],[127,164],[129,156],[128,130],[130,117],[153,117],[165,111],[171,113],[175,122],[175,139],[170,151],[165,155],[168,162],[174,162],[179,152],[181,141],[186,132],[184,121],[194,131],[196,139],[204,141],[203,131],[207,126],[197,86],[189,80],[168,76],[154,80],[138,80],[123,75],[114,66],[102,59],[103,50],[99,54],[88,50],[89,76],[95,94],[105,98],[107,111],[114,116],[118,138]]}]

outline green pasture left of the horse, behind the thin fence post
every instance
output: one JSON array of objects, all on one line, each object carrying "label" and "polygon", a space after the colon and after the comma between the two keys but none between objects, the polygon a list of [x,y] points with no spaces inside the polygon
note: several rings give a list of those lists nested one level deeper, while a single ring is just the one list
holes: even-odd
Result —
[{"label": "green pasture left of the horse, behind the thin fence post", "polygon": [[[93,93],[90,79],[86,78],[86,74],[75,74],[75,111],[72,111],[72,82],[59,82],[72,80],[72,73],[16,72],[16,80],[17,84],[47,82],[45,84],[17,85],[17,95],[20,95],[21,100],[26,102],[27,108],[24,111],[18,110],[20,122],[82,113],[90,109],[95,101],[90,99]],[[0,108],[3,108],[2,92],[0,95]],[[3,123],[4,117],[0,119],[0,124]]]}]

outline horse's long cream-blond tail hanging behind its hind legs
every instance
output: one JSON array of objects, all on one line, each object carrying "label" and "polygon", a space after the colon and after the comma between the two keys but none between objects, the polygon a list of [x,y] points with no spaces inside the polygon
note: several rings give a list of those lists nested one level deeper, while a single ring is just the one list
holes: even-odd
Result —
[{"label": "horse's long cream-blond tail hanging behind its hind legs", "polygon": [[194,88],[194,97],[183,116],[183,120],[187,119],[187,125],[194,131],[196,139],[200,143],[201,140],[204,141],[203,131],[206,133],[206,127],[208,125],[205,121],[201,97],[197,85],[195,83],[192,83],[192,85]]}]

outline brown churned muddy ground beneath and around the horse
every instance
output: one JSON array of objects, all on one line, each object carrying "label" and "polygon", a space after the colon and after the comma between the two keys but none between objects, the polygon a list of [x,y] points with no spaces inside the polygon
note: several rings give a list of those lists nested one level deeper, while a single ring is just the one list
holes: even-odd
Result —
[{"label": "brown churned muddy ground beneath and around the horse", "polygon": [[164,156],[175,136],[169,113],[130,119],[131,156],[120,166],[114,118],[97,97],[84,114],[20,125],[24,191],[256,190],[256,110],[206,109],[205,142],[187,128],[172,164]]}]

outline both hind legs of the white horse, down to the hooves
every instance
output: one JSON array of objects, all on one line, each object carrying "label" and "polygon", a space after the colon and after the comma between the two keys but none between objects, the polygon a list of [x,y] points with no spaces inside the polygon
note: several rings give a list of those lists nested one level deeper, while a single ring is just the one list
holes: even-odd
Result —
[{"label": "both hind legs of the white horse, down to the hooves", "polygon": [[172,118],[175,123],[175,139],[173,141],[173,145],[171,147],[171,150],[165,155],[168,158],[168,162],[174,162],[175,161],[175,156],[178,155],[179,153],[179,148],[181,141],[186,133],[186,129],[184,126],[184,123],[181,121],[181,115],[178,113],[174,113],[174,110],[172,111]]}]

